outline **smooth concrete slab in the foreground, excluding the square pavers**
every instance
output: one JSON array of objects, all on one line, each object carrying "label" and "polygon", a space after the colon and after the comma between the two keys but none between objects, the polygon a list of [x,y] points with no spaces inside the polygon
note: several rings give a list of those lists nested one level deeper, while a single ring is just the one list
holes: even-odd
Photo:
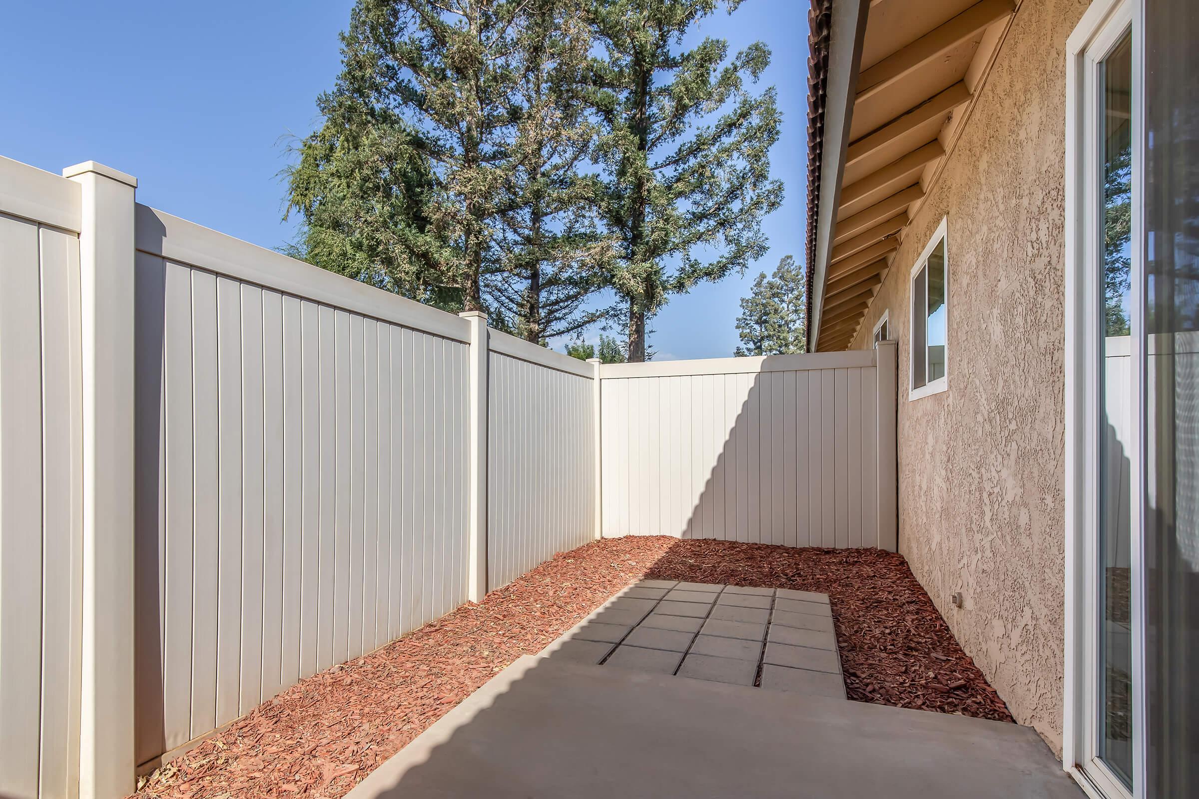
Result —
[{"label": "smooth concrete slab in the foreground, excluding the square pavers", "polygon": [[1081,795],[1029,727],[530,655],[349,794]]}]

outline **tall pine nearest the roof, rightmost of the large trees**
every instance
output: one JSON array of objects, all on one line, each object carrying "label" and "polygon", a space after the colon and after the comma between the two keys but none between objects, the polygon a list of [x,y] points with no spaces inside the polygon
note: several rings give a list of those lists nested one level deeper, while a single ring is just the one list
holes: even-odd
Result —
[{"label": "tall pine nearest the roof, rightmost of the large trees", "polygon": [[[731,13],[740,0],[724,4]],[[669,295],[719,280],[766,252],[761,219],[779,207],[770,178],[778,140],[775,90],[754,95],[770,63],[760,42],[728,57],[705,38],[676,52],[717,0],[596,0],[603,56],[594,103],[596,157],[608,176],[603,213],[621,243],[610,283],[627,314],[628,359],[646,357],[646,320]]]}]

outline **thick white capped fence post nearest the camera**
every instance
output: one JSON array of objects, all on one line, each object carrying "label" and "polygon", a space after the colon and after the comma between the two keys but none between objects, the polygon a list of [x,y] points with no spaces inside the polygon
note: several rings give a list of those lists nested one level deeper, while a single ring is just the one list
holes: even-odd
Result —
[{"label": "thick white capped fence post nearest the camera", "polygon": [[88,161],[82,187],[83,630],[79,795],[133,792],[135,177]]}]

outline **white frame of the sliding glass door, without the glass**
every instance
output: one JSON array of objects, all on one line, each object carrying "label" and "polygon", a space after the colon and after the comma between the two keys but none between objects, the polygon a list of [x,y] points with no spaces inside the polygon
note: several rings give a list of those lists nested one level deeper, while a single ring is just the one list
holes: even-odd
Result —
[{"label": "white frame of the sliding glass door, without the glass", "polygon": [[[1092,799],[1145,799],[1145,297],[1144,297],[1144,0],[1093,0],[1066,43],[1066,646],[1062,765]],[[1134,423],[1129,442],[1132,621],[1132,792],[1098,757],[1098,343],[1103,279],[1098,131],[1103,108],[1096,67],[1132,26],[1132,273],[1129,305]]]}]

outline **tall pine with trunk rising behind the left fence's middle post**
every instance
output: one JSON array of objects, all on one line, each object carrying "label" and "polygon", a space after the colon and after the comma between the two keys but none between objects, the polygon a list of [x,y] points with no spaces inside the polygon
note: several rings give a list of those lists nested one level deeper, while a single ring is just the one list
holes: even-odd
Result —
[{"label": "tall pine with trunk rising behind the left fence's middle post", "polygon": [[[423,236],[429,271],[468,310],[483,309],[483,279],[500,268],[496,228],[513,171],[512,97],[522,78],[519,29],[526,6],[522,0],[357,0],[342,35],[333,93],[363,109],[355,117],[362,126],[385,120],[421,143],[433,180],[409,226]],[[393,167],[384,159],[364,168],[380,181],[392,180]],[[294,190],[293,206],[306,205],[320,202]]]}]

